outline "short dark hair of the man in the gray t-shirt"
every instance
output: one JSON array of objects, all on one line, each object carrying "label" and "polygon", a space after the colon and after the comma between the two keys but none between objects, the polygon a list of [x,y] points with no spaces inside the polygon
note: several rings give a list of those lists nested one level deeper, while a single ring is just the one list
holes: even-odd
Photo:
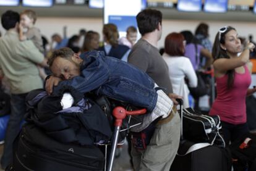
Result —
[{"label": "short dark hair of the man in the gray t-shirt", "polygon": [[137,14],[136,20],[140,34],[143,36],[158,28],[158,24],[162,23],[162,13],[160,10],[144,9]]}]

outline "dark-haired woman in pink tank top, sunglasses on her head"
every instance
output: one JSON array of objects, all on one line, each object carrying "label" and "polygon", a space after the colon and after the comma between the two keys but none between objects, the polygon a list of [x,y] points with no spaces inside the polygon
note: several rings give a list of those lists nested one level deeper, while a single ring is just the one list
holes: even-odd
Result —
[{"label": "dark-haired woman in pink tank top, sunglasses on her head", "polygon": [[210,115],[220,115],[226,144],[249,131],[245,98],[256,89],[248,89],[251,77],[247,62],[249,53],[254,48],[254,44],[248,42],[243,49],[236,29],[230,26],[220,28],[215,37],[212,55],[215,59],[213,68],[217,98]]}]

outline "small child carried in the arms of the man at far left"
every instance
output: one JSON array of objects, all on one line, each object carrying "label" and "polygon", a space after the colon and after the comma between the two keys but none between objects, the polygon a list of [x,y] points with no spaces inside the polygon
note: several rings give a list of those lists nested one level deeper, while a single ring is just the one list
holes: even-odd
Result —
[{"label": "small child carried in the arms of the man at far left", "polygon": [[[32,40],[36,48],[44,54],[45,50],[43,49],[43,40],[41,38],[40,30],[36,28],[36,13],[33,10],[23,10],[20,14],[20,41]],[[24,32],[24,30],[27,30]],[[38,66],[40,77],[45,80],[46,73],[43,67]]]}]

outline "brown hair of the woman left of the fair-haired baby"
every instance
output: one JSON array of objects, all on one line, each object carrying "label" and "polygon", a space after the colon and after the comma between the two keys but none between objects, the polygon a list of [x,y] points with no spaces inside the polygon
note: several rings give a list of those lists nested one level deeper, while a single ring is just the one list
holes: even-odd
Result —
[{"label": "brown hair of the woman left of the fair-haired baby", "polygon": [[111,46],[116,47],[118,45],[119,33],[116,25],[113,23],[108,23],[103,26],[103,35],[106,41],[108,41]]}]

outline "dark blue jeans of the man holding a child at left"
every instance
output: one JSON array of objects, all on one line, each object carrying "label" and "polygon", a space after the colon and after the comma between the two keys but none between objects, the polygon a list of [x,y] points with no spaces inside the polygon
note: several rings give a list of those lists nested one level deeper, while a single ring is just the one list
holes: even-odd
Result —
[{"label": "dark blue jeans of the man holding a child at left", "polygon": [[4,154],[2,154],[1,165],[6,168],[12,162],[12,144],[20,131],[20,123],[26,112],[25,94],[11,94],[11,115],[6,128],[4,138]]}]

